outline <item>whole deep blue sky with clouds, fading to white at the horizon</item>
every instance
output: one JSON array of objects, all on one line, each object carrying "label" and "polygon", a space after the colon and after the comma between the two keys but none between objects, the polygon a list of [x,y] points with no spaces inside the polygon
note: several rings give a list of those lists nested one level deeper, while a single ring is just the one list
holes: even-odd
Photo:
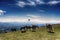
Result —
[{"label": "whole deep blue sky with clouds, fading to white at the horizon", "polygon": [[0,0],[0,22],[26,22],[28,18],[32,22],[60,22],[59,17],[60,0]]}]

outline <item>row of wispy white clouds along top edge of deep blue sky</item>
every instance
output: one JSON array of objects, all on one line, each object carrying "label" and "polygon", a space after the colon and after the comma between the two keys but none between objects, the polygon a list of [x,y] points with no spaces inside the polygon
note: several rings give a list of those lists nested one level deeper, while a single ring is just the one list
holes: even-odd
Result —
[{"label": "row of wispy white clouds along top edge of deep blue sky", "polygon": [[37,6],[38,4],[39,5],[42,5],[42,4],[48,4],[48,5],[56,5],[60,3],[60,1],[56,1],[56,0],[51,0],[49,2],[44,2],[43,0],[27,0],[27,2],[24,2],[24,1],[18,1],[17,2],[17,5],[19,7],[25,7],[25,6]]}]

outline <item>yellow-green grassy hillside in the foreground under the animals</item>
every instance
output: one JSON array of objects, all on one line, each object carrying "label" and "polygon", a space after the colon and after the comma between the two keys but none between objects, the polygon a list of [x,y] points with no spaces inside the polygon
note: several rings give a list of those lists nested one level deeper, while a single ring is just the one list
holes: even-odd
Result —
[{"label": "yellow-green grassy hillside in the foreground under the animals", "polygon": [[60,40],[60,25],[53,25],[55,33],[47,33],[46,28],[37,29],[36,32],[31,30],[26,33],[20,31],[0,34],[0,40]]}]

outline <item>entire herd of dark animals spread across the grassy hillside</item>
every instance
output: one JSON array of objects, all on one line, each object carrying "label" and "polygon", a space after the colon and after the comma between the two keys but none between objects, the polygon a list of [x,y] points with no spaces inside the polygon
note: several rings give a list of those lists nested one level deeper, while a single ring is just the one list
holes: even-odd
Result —
[{"label": "entire herd of dark animals spread across the grassy hillside", "polygon": [[[39,29],[38,26],[36,25],[32,25],[32,26],[23,26],[20,28],[20,31],[21,33],[25,33],[27,30],[32,30],[32,32],[36,32],[36,29]],[[46,29],[47,29],[47,32],[49,33],[54,33],[53,32],[53,28],[52,28],[52,25],[51,24],[46,24]],[[16,28],[11,28],[11,31],[14,32],[14,31],[17,31]],[[4,31],[5,33],[7,33],[7,31]]]}]

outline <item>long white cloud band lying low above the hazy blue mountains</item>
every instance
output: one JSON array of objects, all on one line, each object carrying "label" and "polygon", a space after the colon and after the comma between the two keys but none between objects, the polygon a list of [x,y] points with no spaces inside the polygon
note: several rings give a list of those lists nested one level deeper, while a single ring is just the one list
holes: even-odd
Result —
[{"label": "long white cloud band lying low above the hazy blue mountains", "polygon": [[[40,16],[37,16],[37,15],[32,15],[32,14],[28,14],[27,16],[25,17],[4,17],[4,18],[0,18],[0,22],[25,22],[25,23],[28,23],[28,18],[26,17],[30,17],[30,22],[33,24],[33,23],[60,23],[60,20],[57,20],[57,19],[42,19],[42,17]],[[44,17],[45,18],[45,17]]]}]

